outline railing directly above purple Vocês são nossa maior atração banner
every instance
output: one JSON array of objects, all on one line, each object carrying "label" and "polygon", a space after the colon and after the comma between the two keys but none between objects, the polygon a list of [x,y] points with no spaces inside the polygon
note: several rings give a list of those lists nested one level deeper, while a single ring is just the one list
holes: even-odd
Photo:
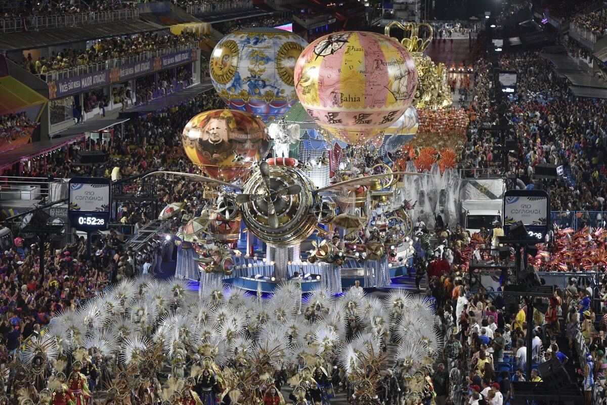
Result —
[{"label": "railing directly above purple Voc\u00eas s\u00e3o nossa maior atra\u00e7\u00e3o banner", "polygon": [[121,67],[123,65],[131,64],[134,62],[145,61],[148,59],[156,58],[158,56],[168,55],[169,53],[181,52],[184,50],[197,49],[198,42],[189,42],[189,44],[179,45],[178,47],[164,48],[154,52],[143,52],[137,56],[127,56],[124,58],[108,59],[107,61],[97,62],[84,66],[76,66],[63,70],[51,70],[46,75],[37,76],[43,81],[56,81],[59,79],[72,78],[75,76],[87,75],[88,73],[100,72],[101,70],[112,69],[114,67]]}]

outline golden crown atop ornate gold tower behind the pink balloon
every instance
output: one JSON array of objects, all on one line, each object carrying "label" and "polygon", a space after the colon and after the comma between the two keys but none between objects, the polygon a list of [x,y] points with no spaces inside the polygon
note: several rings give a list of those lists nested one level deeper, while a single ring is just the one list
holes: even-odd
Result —
[{"label": "golden crown atop ornate gold tower behind the pink balloon", "polygon": [[[411,53],[415,60],[415,67],[418,70],[418,87],[413,98],[413,107],[417,109],[446,109],[453,104],[451,91],[447,85],[447,69],[444,64],[438,66],[423,53],[432,43],[434,30],[432,25],[426,22],[405,22],[401,24],[398,21],[389,22],[384,28],[384,34],[390,36],[390,30],[400,28],[404,32],[404,38],[400,40],[401,44]],[[420,28],[426,28],[429,35],[426,39],[419,38]],[[409,36],[407,36],[409,35]],[[394,38],[394,37],[392,37]],[[398,38],[394,38],[397,39]]]}]

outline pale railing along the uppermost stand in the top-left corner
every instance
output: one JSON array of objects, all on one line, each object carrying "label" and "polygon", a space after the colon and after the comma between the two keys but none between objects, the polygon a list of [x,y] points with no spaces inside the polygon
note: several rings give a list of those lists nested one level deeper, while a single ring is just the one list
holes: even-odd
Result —
[{"label": "pale railing along the uppermost stand in the top-left corner", "polygon": [[114,10],[109,12],[85,12],[74,15],[31,16],[26,18],[0,19],[0,33],[49,30],[52,28],[78,27],[107,22],[132,21],[139,18],[139,10]]}]

